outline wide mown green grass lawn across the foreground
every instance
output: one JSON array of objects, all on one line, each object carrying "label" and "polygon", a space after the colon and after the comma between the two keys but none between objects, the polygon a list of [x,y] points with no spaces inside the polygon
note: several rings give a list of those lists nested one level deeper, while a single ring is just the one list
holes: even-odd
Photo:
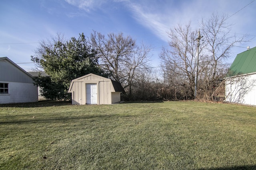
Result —
[{"label": "wide mown green grass lawn across the foreground", "polygon": [[0,105],[0,169],[256,169],[256,107]]}]

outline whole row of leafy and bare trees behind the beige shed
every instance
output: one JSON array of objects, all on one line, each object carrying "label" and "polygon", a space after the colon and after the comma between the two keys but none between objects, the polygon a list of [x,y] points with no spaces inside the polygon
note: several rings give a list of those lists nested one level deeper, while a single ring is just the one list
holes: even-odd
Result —
[{"label": "whole row of leafy and bare trees behind the beige shed", "polygon": [[[212,14],[198,24],[200,39],[197,98],[212,101],[224,93],[223,79],[232,47],[248,41],[247,35],[231,33],[228,15]],[[137,43],[123,33],[102,35],[93,31],[78,38],[63,34],[40,41],[31,56],[38,70],[49,77],[35,78],[49,100],[70,100],[71,80],[94,73],[120,82],[124,100],[191,100],[196,78],[197,31],[191,22],[171,28],[168,47],[159,54],[160,69],[150,66],[151,46]],[[160,75],[160,76],[159,76]],[[160,78],[162,77],[162,78]]]}]

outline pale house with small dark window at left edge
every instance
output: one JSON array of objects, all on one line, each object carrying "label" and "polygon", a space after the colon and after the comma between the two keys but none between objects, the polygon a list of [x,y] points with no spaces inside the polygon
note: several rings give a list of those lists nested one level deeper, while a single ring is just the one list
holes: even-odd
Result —
[{"label": "pale house with small dark window at left edge", "polygon": [[7,57],[0,57],[0,104],[37,102],[33,77]]}]

